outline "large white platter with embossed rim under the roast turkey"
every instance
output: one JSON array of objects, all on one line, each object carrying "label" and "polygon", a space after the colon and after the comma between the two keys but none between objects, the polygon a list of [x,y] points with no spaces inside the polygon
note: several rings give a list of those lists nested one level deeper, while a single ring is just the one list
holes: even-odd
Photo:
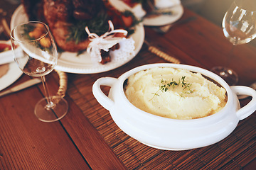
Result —
[{"label": "large white platter with embossed rim under the roast turkey", "polygon": [[[19,23],[24,23],[28,21],[28,17],[24,12],[23,6],[18,6],[16,11],[14,11],[14,15],[11,17],[11,28],[18,25]],[[135,33],[132,34],[132,38],[135,42],[135,55],[142,48],[144,42],[144,27],[142,24],[139,24],[136,27]],[[77,52],[63,52],[58,59],[58,64],[55,69],[58,69],[63,72],[77,73],[77,74],[92,74],[99,72],[107,72],[112,69],[116,69],[117,67],[126,64],[130,60],[132,60],[134,56],[130,56],[127,60],[122,60],[121,62],[108,62],[107,64],[100,64],[91,62],[90,56],[87,52],[84,52],[82,55],[77,56]]]}]

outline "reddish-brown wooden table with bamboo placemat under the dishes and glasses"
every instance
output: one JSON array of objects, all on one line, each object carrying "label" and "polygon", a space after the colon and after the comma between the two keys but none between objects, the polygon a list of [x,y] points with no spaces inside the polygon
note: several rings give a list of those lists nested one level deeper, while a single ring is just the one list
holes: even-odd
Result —
[{"label": "reddish-brown wooden table with bamboo placemat under the dishes and glasses", "polygon": [[[9,13],[11,15],[11,13]],[[238,72],[241,85],[256,80],[256,49],[232,47],[221,28],[185,8],[181,18],[196,20],[173,26],[159,34],[145,27],[146,40],[182,64],[210,69],[227,65]],[[165,151],[147,147],[117,128],[110,113],[92,95],[92,84],[100,77],[119,77],[142,64],[165,62],[146,45],[122,67],[100,74],[68,74],[65,99],[69,111],[55,123],[43,123],[33,114],[43,97],[41,84],[0,98],[0,169],[253,169],[256,166],[256,115],[240,121],[225,140],[187,151]],[[30,77],[23,75],[11,86]],[[58,74],[47,76],[50,93],[58,90]],[[10,87],[11,87],[10,86]],[[109,89],[103,88],[104,91]],[[242,105],[248,100],[241,101]]]}]

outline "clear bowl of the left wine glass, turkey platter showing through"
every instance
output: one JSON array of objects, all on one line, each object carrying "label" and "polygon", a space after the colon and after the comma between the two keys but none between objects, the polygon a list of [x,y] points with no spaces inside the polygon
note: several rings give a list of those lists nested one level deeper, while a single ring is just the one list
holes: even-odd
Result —
[{"label": "clear bowl of the left wine glass, turkey platter showing through", "polygon": [[14,50],[16,56],[14,59],[25,74],[41,77],[53,71],[57,64],[58,53],[46,25],[37,22],[25,23],[14,28],[11,37],[16,45],[13,47],[21,47],[19,51]]}]

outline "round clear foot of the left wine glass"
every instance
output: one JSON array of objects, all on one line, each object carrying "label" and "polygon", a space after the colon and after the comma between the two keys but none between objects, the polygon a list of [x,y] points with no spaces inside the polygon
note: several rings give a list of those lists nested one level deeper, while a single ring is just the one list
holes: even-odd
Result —
[{"label": "round clear foot of the left wine glass", "polygon": [[47,107],[46,98],[42,98],[36,103],[35,115],[43,122],[55,122],[68,113],[68,102],[64,98],[61,96],[50,96],[50,100],[54,103],[52,108]]}]

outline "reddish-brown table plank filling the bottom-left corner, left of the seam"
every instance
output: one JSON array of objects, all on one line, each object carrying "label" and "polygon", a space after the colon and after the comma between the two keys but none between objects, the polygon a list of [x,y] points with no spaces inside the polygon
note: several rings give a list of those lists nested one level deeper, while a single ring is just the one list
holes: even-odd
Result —
[{"label": "reddish-brown table plank filling the bottom-left corner, left of the seam", "polygon": [[0,98],[0,169],[90,169],[63,125],[34,115],[38,86]]}]

